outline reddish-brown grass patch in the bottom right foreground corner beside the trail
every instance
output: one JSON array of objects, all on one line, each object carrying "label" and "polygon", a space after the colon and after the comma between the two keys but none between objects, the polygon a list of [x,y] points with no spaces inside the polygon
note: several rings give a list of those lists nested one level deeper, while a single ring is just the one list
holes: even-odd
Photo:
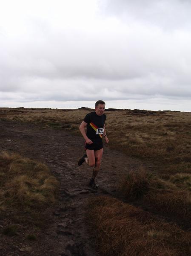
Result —
[{"label": "reddish-brown grass patch in the bottom right foreground corner beside the trail", "polygon": [[117,199],[91,199],[89,218],[102,256],[180,256],[191,253],[191,234]]}]

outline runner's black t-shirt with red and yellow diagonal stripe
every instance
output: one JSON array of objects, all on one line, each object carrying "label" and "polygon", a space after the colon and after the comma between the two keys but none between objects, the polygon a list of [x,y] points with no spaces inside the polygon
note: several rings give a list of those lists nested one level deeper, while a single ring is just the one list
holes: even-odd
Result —
[{"label": "runner's black t-shirt with red and yellow diagonal stripe", "polygon": [[103,134],[103,127],[105,124],[106,115],[103,114],[101,116],[98,116],[97,113],[91,112],[88,113],[85,118],[83,119],[84,122],[86,122],[87,125],[87,137],[92,141],[99,141],[102,140],[102,134]]}]

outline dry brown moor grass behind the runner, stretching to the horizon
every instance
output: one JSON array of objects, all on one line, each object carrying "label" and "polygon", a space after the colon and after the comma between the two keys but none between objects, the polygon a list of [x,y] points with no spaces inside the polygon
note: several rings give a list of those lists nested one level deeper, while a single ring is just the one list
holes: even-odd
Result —
[{"label": "dry brown moor grass behind the runner, stretching to the horizon", "polygon": [[[0,119],[32,122],[79,134],[79,125],[91,109],[0,108]],[[152,158],[160,173],[191,172],[191,113],[173,111],[106,111],[109,145],[126,154]],[[120,136],[119,136],[120,135]]]}]

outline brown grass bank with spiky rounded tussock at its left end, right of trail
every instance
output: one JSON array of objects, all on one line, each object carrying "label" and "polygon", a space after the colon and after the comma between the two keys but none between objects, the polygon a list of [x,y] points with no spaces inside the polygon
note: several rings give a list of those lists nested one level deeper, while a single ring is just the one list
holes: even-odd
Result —
[{"label": "brown grass bank with spiky rounded tussock at its left end, right of trail", "polygon": [[[150,211],[190,228],[191,193],[190,186],[187,185],[190,179],[191,175],[177,174],[164,181],[144,169],[139,169],[129,172],[119,188],[119,193],[128,201],[140,200]],[[180,189],[180,186],[184,189]]]}]

